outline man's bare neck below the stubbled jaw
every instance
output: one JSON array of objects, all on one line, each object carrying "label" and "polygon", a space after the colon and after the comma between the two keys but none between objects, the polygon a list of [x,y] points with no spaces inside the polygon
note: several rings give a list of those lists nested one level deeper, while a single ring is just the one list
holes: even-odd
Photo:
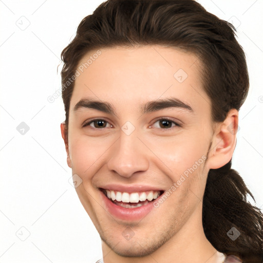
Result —
[{"label": "man's bare neck below the stubbled jaw", "polygon": [[224,255],[206,239],[202,227],[202,202],[184,226],[151,255],[123,257],[102,241],[104,263],[222,263]]}]

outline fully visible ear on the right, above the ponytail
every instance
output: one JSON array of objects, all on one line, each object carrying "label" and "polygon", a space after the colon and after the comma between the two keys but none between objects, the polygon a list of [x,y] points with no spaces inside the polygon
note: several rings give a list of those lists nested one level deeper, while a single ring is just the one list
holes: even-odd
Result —
[{"label": "fully visible ear on the right, above the ponytail", "polygon": [[236,146],[238,111],[231,109],[223,122],[215,125],[212,145],[208,154],[208,168],[217,169],[227,164]]}]

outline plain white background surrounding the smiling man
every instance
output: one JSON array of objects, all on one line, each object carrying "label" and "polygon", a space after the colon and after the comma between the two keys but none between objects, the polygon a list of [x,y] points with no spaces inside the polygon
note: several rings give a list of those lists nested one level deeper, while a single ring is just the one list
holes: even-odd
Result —
[{"label": "plain white background surrounding the smiling man", "polygon": [[[232,167],[263,208],[263,2],[199,2],[237,27],[247,54],[251,88],[239,111]],[[62,99],[47,100],[61,88],[61,51],[82,18],[101,3],[0,1],[1,263],[92,263],[102,256],[100,237],[68,182],[71,170],[60,134]],[[16,130],[21,122],[30,128],[25,135]]]}]

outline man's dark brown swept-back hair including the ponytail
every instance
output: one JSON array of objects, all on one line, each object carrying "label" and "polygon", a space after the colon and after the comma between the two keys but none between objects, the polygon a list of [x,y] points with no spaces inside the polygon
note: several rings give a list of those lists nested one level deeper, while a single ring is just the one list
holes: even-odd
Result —
[{"label": "man's dark brown swept-back hair including the ponytail", "polygon": [[[223,121],[230,109],[240,109],[248,94],[249,77],[245,54],[231,24],[193,0],[108,0],[81,21],[61,54],[66,138],[74,82],[65,83],[76,73],[83,56],[104,47],[156,44],[192,52],[202,62],[203,88],[211,99],[214,122]],[[231,161],[210,170],[203,196],[203,228],[218,251],[259,263],[263,217],[247,201],[248,194],[252,196],[231,169]],[[227,235],[233,227],[240,232],[236,240]]]}]

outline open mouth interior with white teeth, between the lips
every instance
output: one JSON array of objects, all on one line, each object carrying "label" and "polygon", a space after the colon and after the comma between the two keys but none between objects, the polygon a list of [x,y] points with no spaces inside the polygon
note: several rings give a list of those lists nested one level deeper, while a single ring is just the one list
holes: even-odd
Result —
[{"label": "open mouth interior with white teeth, between the lips", "polygon": [[108,189],[100,189],[100,191],[112,203],[127,209],[139,208],[140,206],[152,203],[164,193],[164,191],[153,190],[133,193],[119,192]]}]

